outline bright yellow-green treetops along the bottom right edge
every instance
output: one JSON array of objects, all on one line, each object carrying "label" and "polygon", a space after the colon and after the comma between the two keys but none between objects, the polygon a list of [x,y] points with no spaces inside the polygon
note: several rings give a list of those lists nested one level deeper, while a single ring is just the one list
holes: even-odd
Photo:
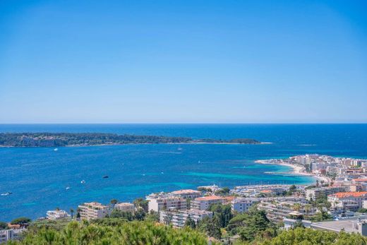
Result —
[{"label": "bright yellow-green treetops along the bottom right edge", "polygon": [[264,241],[263,245],[288,245],[288,244],[307,244],[307,245],[363,245],[367,244],[366,237],[360,234],[347,234],[340,232],[326,232],[310,228],[289,229],[281,232],[277,237]]}]

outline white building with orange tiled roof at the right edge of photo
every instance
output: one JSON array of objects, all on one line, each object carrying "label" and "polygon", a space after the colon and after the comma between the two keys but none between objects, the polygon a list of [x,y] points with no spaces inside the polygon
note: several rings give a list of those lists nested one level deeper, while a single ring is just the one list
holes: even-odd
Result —
[{"label": "white building with orange tiled roof at the right edge of photo", "polygon": [[[340,203],[356,203],[358,208],[362,208],[363,201],[367,200],[367,191],[359,192],[338,192],[327,196],[327,201],[331,203],[332,207],[340,207]],[[345,202],[348,201],[348,202]]]}]

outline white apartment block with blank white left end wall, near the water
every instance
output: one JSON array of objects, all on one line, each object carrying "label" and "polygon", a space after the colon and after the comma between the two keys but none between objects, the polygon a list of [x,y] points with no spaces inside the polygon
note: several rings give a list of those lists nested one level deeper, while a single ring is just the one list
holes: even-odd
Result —
[{"label": "white apartment block with blank white left end wall, near the water", "polygon": [[153,210],[155,212],[160,212],[160,210],[186,210],[187,202],[186,199],[181,198],[181,196],[147,196],[148,210]]}]

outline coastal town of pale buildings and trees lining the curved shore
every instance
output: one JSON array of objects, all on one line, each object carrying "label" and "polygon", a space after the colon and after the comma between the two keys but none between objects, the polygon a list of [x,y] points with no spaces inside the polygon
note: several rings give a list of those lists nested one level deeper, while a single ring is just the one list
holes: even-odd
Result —
[{"label": "coastal town of pale buildings and trees lining the curved shore", "polygon": [[151,193],[133,203],[116,199],[108,204],[90,201],[80,203],[75,210],[49,210],[45,217],[32,222],[25,217],[1,222],[0,243],[20,239],[21,234],[37,222],[47,224],[119,217],[129,221],[150,219],[174,228],[203,227],[203,222],[219,219],[219,224],[223,223],[217,227],[219,233],[205,230],[207,236],[231,244],[241,239],[230,227],[232,220],[254,209],[265,213],[267,220],[281,229],[302,226],[367,236],[367,160],[313,154],[256,162],[291,167],[293,171],[277,174],[315,177],[314,184],[258,184],[233,189],[210,185],[198,186],[196,190]]}]

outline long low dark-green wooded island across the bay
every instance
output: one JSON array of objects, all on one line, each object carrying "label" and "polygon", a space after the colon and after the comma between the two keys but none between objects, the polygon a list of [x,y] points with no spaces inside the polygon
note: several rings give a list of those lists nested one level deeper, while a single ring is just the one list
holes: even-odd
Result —
[{"label": "long low dark-green wooded island across the bay", "polygon": [[260,144],[252,138],[193,139],[190,137],[137,136],[116,133],[0,133],[0,147],[61,147],[88,145],[168,143]]}]

